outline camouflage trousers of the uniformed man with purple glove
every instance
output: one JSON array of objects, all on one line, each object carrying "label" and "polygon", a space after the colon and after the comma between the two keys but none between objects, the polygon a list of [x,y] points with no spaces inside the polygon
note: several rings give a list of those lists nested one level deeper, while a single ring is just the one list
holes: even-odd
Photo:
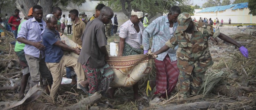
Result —
[{"label": "camouflage trousers of the uniformed man with purple glove", "polygon": [[202,87],[203,78],[207,69],[194,67],[191,74],[187,74],[179,69],[178,87],[179,99],[184,99],[190,95],[197,95]]}]

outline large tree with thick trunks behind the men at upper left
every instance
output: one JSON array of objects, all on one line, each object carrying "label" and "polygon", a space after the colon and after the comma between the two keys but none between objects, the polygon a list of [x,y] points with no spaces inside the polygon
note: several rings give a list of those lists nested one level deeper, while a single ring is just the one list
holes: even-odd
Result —
[{"label": "large tree with thick trunks behind the men at upper left", "polygon": [[31,7],[37,5],[40,2],[40,6],[43,8],[44,18],[47,14],[51,14],[54,6],[63,5],[67,6],[69,3],[81,6],[86,0],[17,0],[17,3],[22,8],[22,12],[26,13]]}]

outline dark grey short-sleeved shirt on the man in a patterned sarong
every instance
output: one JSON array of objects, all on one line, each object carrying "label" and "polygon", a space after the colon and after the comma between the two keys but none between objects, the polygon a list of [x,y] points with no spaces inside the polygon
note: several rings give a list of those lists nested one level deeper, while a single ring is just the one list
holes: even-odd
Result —
[{"label": "dark grey short-sleeved shirt on the man in a patterned sarong", "polygon": [[82,49],[78,62],[85,65],[88,61],[87,66],[96,69],[106,65],[104,54],[99,48],[108,45],[105,34],[105,25],[101,18],[95,18],[87,23],[81,40]]}]

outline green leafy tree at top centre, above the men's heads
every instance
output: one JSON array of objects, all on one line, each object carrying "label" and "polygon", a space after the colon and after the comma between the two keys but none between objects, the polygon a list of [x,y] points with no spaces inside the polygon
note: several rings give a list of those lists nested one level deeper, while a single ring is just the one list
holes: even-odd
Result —
[{"label": "green leafy tree at top centre, above the men's heads", "polygon": [[183,12],[189,12],[190,6],[182,4],[182,0],[105,0],[114,11],[122,10],[123,13],[130,18],[132,9],[140,9],[150,16],[148,20],[156,14],[163,14],[168,12],[171,6],[177,5]]}]

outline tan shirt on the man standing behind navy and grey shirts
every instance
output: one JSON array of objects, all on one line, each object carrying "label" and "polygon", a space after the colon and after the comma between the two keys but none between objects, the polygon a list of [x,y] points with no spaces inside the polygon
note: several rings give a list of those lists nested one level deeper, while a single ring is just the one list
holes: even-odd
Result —
[{"label": "tan shirt on the man standing behind navy and grey shirts", "polygon": [[82,46],[82,34],[84,32],[85,29],[85,23],[82,22],[81,20],[78,20],[78,22],[75,24],[75,22],[73,22],[73,26],[72,26],[72,30],[73,30],[73,36],[72,36],[72,40],[77,43],[78,45]]}]

